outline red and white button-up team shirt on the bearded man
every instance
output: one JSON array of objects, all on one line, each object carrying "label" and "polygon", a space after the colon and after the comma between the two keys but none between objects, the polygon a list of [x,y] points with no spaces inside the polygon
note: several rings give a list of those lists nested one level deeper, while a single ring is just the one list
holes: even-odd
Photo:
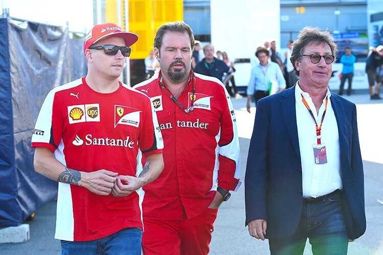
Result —
[{"label": "red and white button-up team shirt on the bearded man", "polygon": [[178,98],[190,110],[195,87],[194,110],[186,113],[158,77],[161,72],[134,86],[150,97],[164,139],[165,166],[154,182],[143,187],[143,217],[177,220],[185,213],[193,218],[209,206],[217,185],[228,190],[241,185],[234,110],[216,78],[192,71]]}]

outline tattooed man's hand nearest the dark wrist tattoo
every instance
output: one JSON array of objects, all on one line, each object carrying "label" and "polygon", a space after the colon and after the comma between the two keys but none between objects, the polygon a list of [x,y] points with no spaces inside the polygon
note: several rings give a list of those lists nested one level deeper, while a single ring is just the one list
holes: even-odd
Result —
[{"label": "tattooed man's hand nearest the dark wrist tattoo", "polygon": [[81,180],[78,182],[79,186],[87,188],[94,194],[107,196],[112,191],[116,176],[118,173],[108,171],[105,169],[95,172],[80,172]]}]

